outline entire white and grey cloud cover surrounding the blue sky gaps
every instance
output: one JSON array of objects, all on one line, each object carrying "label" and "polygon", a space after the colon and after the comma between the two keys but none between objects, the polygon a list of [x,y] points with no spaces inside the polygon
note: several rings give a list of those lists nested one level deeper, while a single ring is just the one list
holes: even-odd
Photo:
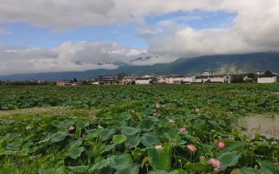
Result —
[{"label": "entire white and grey cloud cover surrounding the blue sky gaps", "polygon": [[[177,11],[217,11],[237,13],[235,19],[220,28],[194,30],[185,25],[200,16],[162,19],[148,26],[146,16]],[[204,16],[207,18],[207,16]],[[210,19],[208,19],[210,20]],[[278,0],[73,0],[3,1],[0,22],[28,22],[37,27],[52,27],[53,33],[96,25],[135,22],[138,36],[147,39],[148,48],[135,49],[117,43],[64,42],[53,49],[0,46],[0,74],[49,71],[85,71],[114,69],[114,62],[132,65],[166,63],[175,58],[212,54],[248,53],[279,48]],[[0,33],[3,29],[0,28]],[[118,30],[117,30],[118,31]],[[7,32],[5,30],[5,32]],[[168,35],[166,38],[157,37]],[[8,50],[13,50],[9,51]],[[16,51],[16,52],[15,52]],[[137,57],[154,56],[143,62],[130,62]],[[158,58],[155,58],[158,56]],[[76,64],[81,62],[82,65]],[[102,63],[99,65],[98,63]]]}]

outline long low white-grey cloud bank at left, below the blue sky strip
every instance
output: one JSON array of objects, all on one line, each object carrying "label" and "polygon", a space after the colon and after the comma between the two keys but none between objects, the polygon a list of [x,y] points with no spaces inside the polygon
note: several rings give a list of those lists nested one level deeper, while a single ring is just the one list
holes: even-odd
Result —
[{"label": "long low white-grey cloud bank at left, below the blue sky strip", "polygon": [[[61,46],[50,50],[0,46],[0,75],[115,69],[119,66],[116,63],[133,65],[134,62],[130,62],[131,60],[148,55],[146,49],[130,48],[117,43],[85,41],[75,44],[71,41],[64,42]],[[165,63],[169,60],[161,57],[138,62],[138,65],[152,65],[158,62]]]}]

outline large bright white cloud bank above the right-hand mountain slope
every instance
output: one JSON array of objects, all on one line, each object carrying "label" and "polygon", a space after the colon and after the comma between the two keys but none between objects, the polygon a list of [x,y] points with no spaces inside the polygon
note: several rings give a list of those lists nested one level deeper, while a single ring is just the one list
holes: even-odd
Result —
[{"label": "large bright white cloud bank above the right-hand mountain slope", "polygon": [[238,11],[232,27],[194,30],[170,25],[164,39],[151,38],[149,53],[161,56],[200,56],[279,50],[279,1],[222,1]]}]

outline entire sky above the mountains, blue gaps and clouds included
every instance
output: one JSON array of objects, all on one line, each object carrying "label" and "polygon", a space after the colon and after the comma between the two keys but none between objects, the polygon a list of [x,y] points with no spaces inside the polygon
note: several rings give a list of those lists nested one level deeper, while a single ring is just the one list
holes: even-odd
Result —
[{"label": "entire sky above the mountains, blue gaps and clouds included", "polygon": [[0,75],[279,51],[278,31],[278,0],[3,1]]}]

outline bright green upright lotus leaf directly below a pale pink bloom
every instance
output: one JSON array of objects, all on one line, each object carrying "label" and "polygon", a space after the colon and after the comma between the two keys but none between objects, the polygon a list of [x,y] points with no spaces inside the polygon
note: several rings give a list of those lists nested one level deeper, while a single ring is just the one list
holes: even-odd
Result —
[{"label": "bright green upright lotus leaf directly below a pale pink bloom", "polygon": [[147,154],[151,157],[151,166],[155,166],[156,169],[166,170],[169,164],[169,158],[165,150],[156,150],[155,148],[151,148],[148,150]]}]

